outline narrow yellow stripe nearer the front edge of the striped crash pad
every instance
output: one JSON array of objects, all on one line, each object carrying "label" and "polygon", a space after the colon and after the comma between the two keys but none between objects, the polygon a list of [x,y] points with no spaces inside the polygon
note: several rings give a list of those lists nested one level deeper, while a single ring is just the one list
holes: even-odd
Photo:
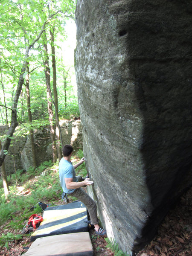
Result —
[{"label": "narrow yellow stripe nearer the front edge of the striped crash pad", "polygon": [[68,221],[68,222],[61,223],[61,224],[58,224],[58,225],[55,225],[55,226],[52,226],[52,227],[47,227],[47,228],[44,228],[44,229],[41,229],[41,230],[36,230],[31,236],[37,236],[37,235],[39,236],[39,235],[49,234],[52,231],[59,230],[63,227],[67,227],[67,226],[70,226],[70,225],[72,225],[76,222],[79,222],[79,221],[83,220],[84,218],[87,218],[87,216],[83,216],[83,217],[77,218],[73,221]]}]

